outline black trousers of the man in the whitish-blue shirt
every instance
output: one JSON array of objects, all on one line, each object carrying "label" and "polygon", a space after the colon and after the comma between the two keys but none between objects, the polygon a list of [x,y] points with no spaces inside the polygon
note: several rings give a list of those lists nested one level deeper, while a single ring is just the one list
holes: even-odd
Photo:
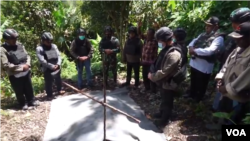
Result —
[{"label": "black trousers of the man in the whitish-blue shirt", "polygon": [[191,67],[190,97],[198,102],[204,97],[211,74],[206,74]]}]

